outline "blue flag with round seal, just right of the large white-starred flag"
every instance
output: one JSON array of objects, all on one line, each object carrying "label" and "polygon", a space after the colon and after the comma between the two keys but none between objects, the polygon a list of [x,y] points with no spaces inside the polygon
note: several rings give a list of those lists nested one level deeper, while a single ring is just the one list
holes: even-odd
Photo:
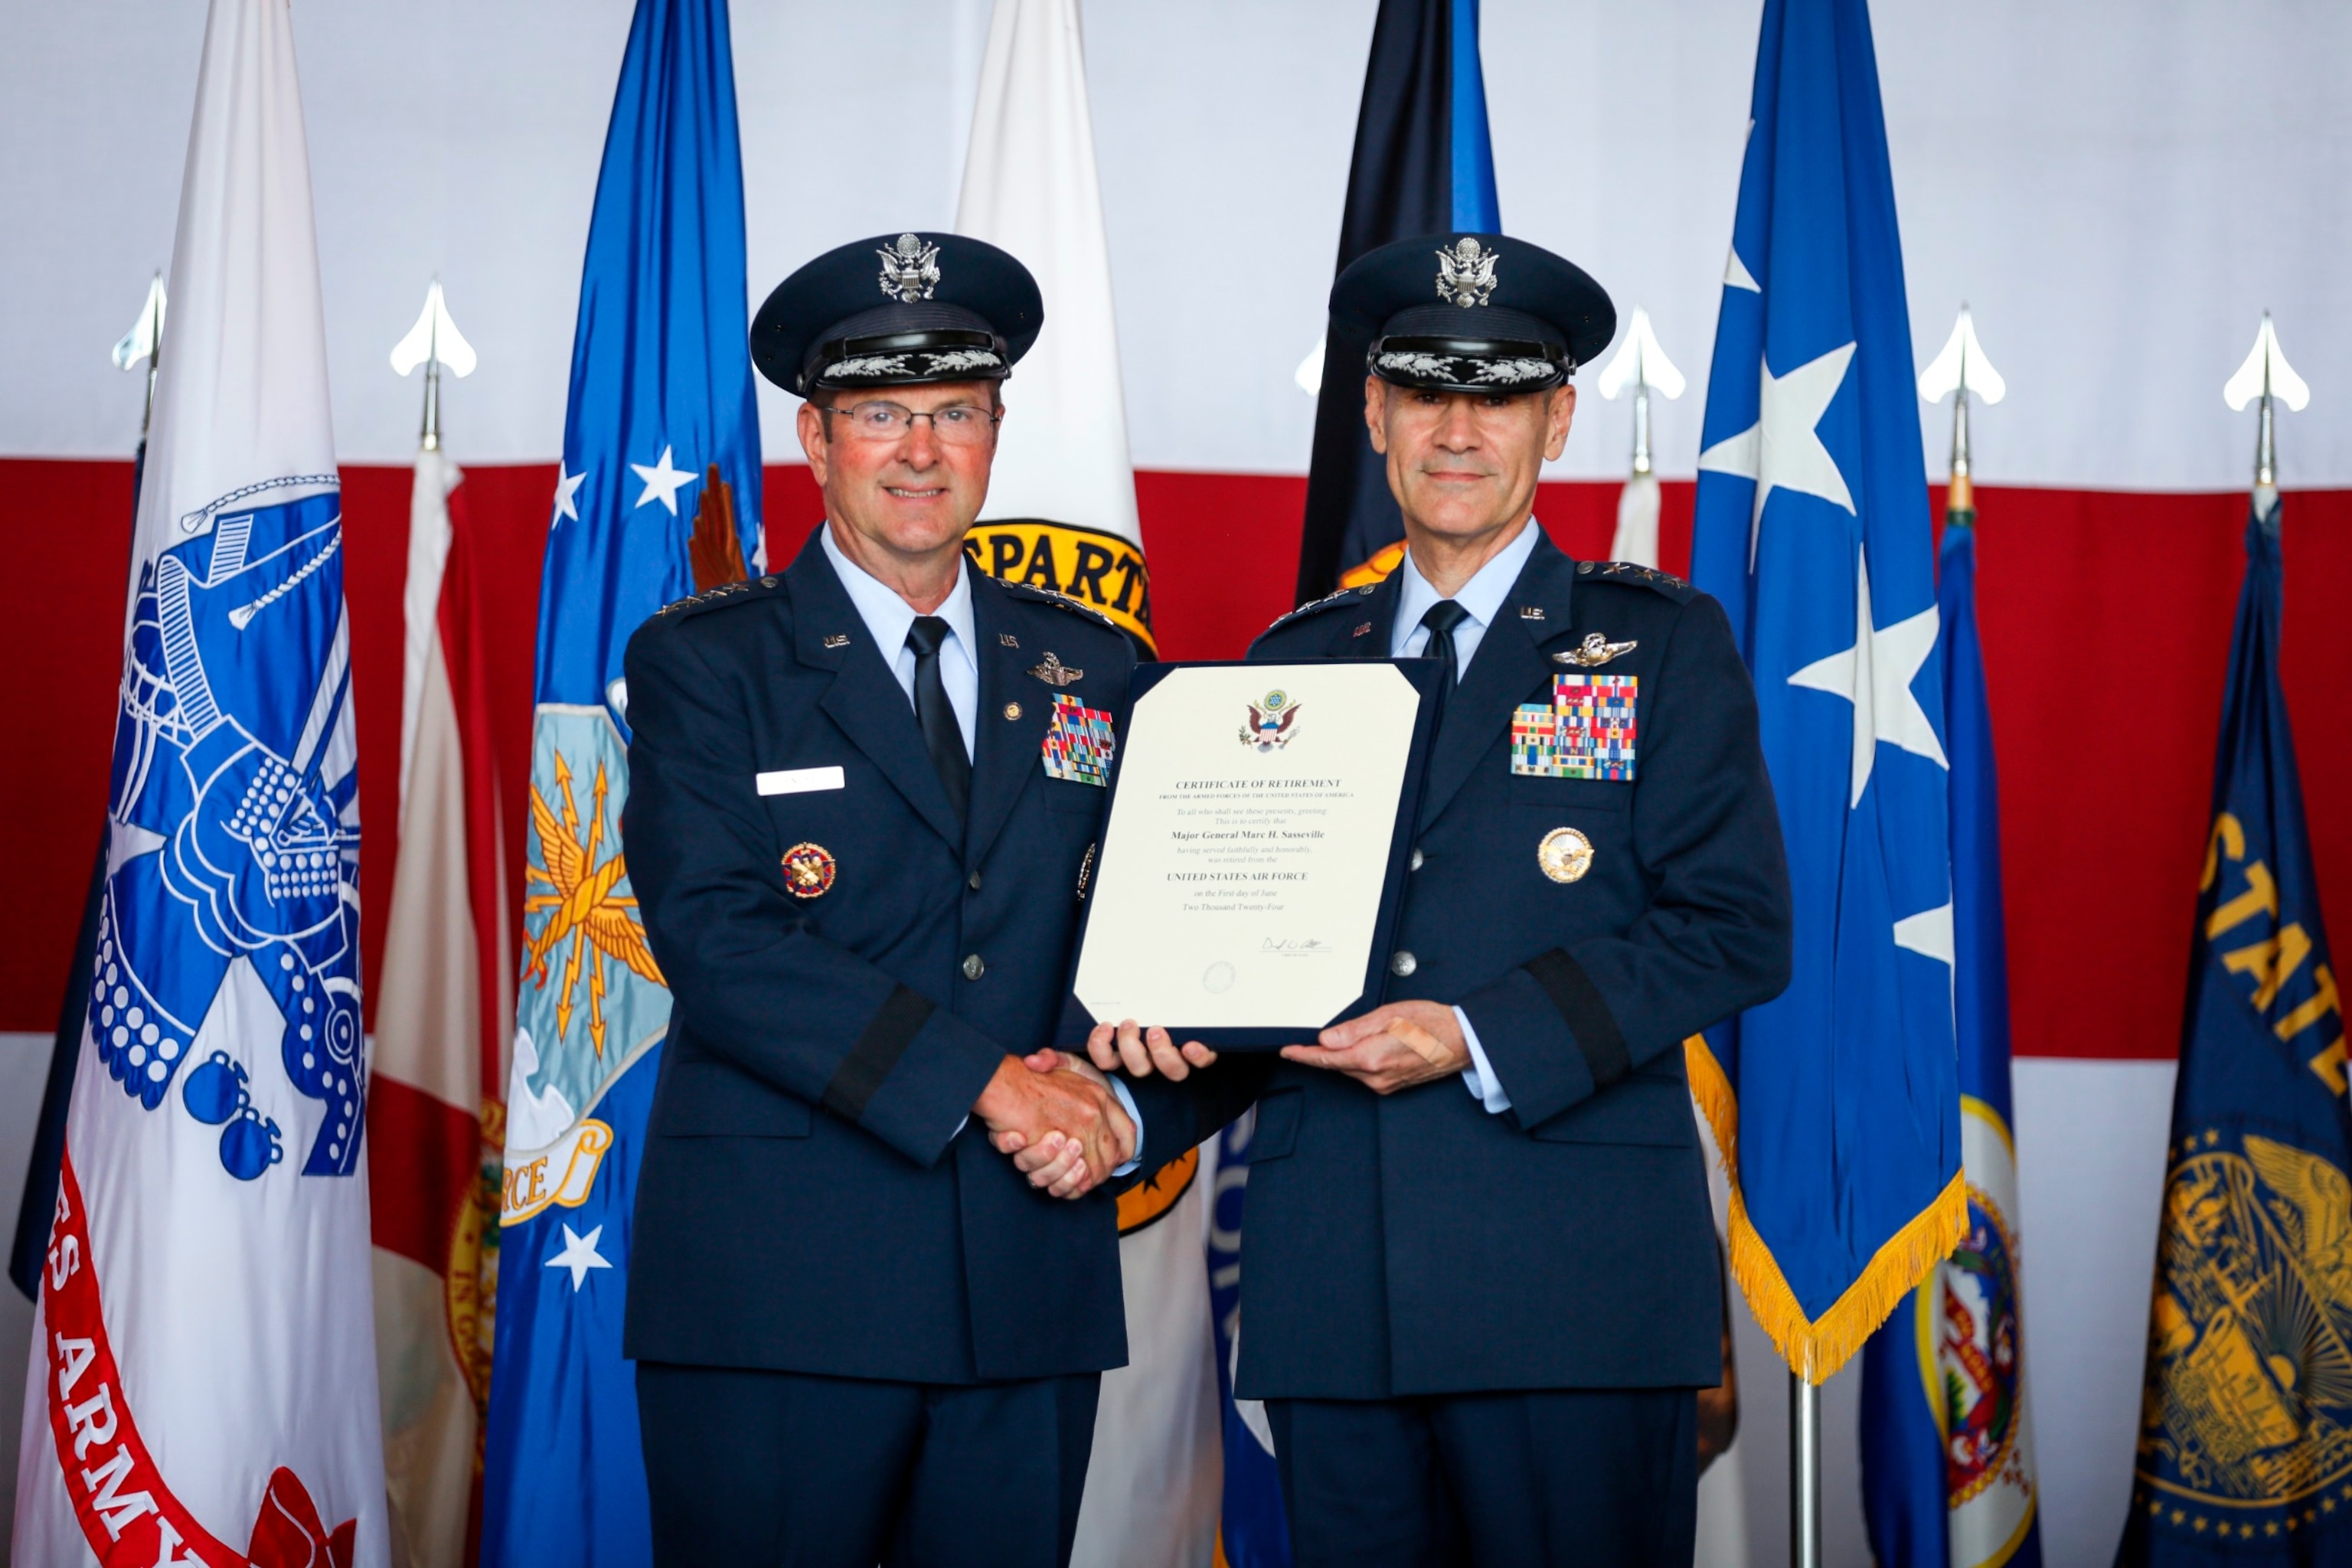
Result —
[{"label": "blue flag with round seal, just right of the large white-starred flag", "polygon": [[2018,1305],[2002,837],[1966,484],[1955,475],[1936,609],[1952,755],[1952,990],[1969,1234],[1863,1352],[1863,1512],[1879,1568],[2042,1568]]}]

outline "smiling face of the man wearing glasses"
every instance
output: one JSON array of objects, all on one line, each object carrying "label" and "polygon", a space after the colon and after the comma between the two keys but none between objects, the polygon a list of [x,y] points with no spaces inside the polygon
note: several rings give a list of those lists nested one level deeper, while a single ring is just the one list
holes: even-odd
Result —
[{"label": "smiling face of the man wearing glasses", "polygon": [[[962,550],[964,529],[988,498],[988,465],[997,456],[995,393],[993,381],[943,381],[818,393],[818,400],[835,409],[830,418],[816,402],[800,407],[800,447],[809,454],[811,477],[826,491],[826,515],[837,529],[856,536],[844,541],[851,557],[873,550],[920,562],[943,550]],[[917,418],[894,440],[873,440],[849,411],[875,402],[962,421],[967,428],[983,423],[988,430],[978,442],[957,444],[941,440],[931,418]]]}]

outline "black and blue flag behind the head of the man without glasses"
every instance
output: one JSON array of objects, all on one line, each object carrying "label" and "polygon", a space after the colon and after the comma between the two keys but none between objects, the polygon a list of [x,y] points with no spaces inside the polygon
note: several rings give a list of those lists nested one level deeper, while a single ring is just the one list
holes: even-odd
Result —
[{"label": "black and blue flag behind the head of the man without glasses", "polygon": [[[1331,275],[1390,240],[1439,228],[1503,233],[1477,0],[1381,0]],[[1298,541],[1301,604],[1334,588],[1378,583],[1404,559],[1404,520],[1388,494],[1385,458],[1364,433],[1369,348],[1336,327],[1324,336]]]}]

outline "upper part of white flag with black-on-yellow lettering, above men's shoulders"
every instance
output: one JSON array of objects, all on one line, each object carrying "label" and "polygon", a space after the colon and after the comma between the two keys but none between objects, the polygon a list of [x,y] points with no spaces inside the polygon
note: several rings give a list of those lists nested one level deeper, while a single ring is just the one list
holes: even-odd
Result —
[{"label": "upper part of white flag with black-on-yellow lettering, above men's shoulders", "polygon": [[993,576],[1084,599],[1150,656],[1077,0],[997,0],[955,233],[1018,256],[1044,296],[1044,331],[1004,383],[988,503],[964,550]]}]

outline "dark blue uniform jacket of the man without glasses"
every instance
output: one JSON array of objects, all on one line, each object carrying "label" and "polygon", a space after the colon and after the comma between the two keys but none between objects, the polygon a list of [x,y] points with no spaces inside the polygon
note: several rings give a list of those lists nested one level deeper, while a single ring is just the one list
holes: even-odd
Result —
[{"label": "dark blue uniform jacket of the man without glasses", "polygon": [[[1531,524],[1534,527],[1534,524]],[[1397,578],[1277,621],[1249,656],[1385,656]],[[1512,771],[1522,703],[1588,632],[1630,644],[1635,776]],[[1788,983],[1790,893],[1755,691],[1722,609],[1538,538],[1446,698],[1388,1001],[1461,1006],[1510,1110],[1461,1077],[1376,1095],[1228,1056],[1261,1081],[1242,1260],[1244,1396],[1708,1387],[1722,1253],[1684,1037]],[[1536,846],[1592,844],[1555,882]],[[1411,957],[1406,957],[1411,954]],[[1150,1119],[1152,1100],[1145,1103]],[[1216,1114],[1216,1112],[1211,1112]]]}]

